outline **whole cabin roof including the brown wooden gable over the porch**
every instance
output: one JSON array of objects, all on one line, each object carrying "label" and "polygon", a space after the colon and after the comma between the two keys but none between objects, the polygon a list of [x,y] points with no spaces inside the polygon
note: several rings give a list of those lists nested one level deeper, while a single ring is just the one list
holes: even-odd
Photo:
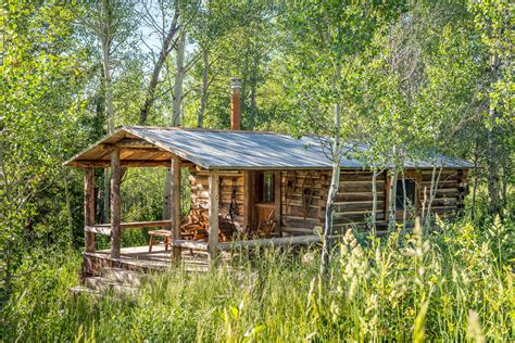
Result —
[{"label": "whole cabin roof including the brown wooden gable over the porch", "polygon": [[[78,153],[65,166],[106,166],[111,147],[123,147],[125,166],[166,165],[172,154],[206,169],[330,169],[331,161],[324,142],[313,136],[300,139],[288,135],[205,130],[176,127],[124,126]],[[364,151],[365,144],[349,144],[342,168],[364,168],[351,152]],[[472,168],[461,158],[436,155],[438,166]],[[432,158],[431,158],[432,160]],[[432,161],[411,160],[405,168],[430,168]]]}]

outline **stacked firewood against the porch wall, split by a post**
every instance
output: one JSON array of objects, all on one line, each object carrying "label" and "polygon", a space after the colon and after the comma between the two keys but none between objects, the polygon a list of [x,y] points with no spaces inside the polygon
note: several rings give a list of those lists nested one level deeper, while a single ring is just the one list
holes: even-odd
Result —
[{"label": "stacked firewood against the porch wall, split by a post", "polygon": [[[191,208],[189,215],[183,218],[180,231],[183,238],[193,241],[208,241],[209,212],[204,208]],[[230,241],[237,231],[230,219],[218,216],[218,241]]]}]

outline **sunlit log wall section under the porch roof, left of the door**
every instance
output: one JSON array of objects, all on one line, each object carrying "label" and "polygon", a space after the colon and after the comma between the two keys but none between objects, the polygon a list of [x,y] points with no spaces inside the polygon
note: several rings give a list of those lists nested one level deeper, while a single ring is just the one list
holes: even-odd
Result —
[{"label": "sunlit log wall section under the porch roof, left of the door", "polygon": [[[194,172],[189,176],[191,185],[191,208],[209,208],[209,173]],[[233,198],[233,181],[236,181],[236,202],[238,203],[239,215],[235,218],[235,225],[242,228],[243,225],[243,173],[242,172],[221,172],[219,173],[219,213],[229,213]]]}]

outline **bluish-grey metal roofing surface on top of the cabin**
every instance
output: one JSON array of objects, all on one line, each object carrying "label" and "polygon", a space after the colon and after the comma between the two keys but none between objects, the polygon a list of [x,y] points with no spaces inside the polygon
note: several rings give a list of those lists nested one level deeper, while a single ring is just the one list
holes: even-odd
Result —
[{"label": "bluish-grey metal roofing surface on top of the cabin", "polygon": [[[66,165],[81,160],[100,158],[96,149],[124,137],[141,138],[206,169],[316,169],[330,168],[321,140],[304,136],[256,131],[202,130],[172,127],[125,126],[113,135],[74,156]],[[346,147],[347,150],[366,150],[364,144]],[[105,158],[105,157],[104,157]],[[432,160],[432,158],[431,158]],[[467,161],[437,155],[438,165],[449,168],[470,168]],[[356,158],[346,156],[343,168],[366,167]],[[407,161],[406,168],[429,168],[431,161]]]}]

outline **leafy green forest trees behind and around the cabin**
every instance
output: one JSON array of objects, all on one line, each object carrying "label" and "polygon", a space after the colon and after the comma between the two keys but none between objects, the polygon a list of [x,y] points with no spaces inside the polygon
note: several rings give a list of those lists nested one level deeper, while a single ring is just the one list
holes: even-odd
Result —
[{"label": "leafy green forest trees behind and around the cabin", "polygon": [[[122,125],[226,129],[231,77],[242,81],[243,129],[364,141],[369,163],[466,158],[476,167],[465,216],[478,228],[511,221],[513,10],[503,0],[2,1],[0,303],[46,256],[84,246],[83,175],[65,160]],[[165,174],[124,174],[124,220],[163,216]],[[104,195],[100,187],[103,221]]]}]

